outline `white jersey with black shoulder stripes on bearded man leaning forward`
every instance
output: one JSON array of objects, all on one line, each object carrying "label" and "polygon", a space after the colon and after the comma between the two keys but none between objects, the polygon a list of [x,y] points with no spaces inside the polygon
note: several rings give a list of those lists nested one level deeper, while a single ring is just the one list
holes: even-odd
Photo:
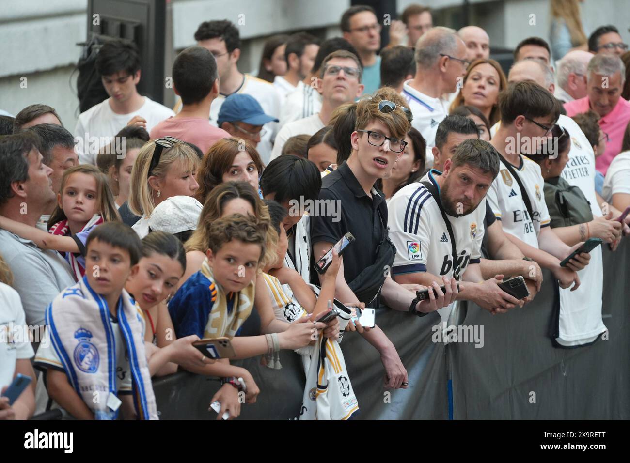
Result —
[{"label": "white jersey with black shoulder stripes on bearded man leaning forward", "polygon": [[[437,186],[434,180],[437,175],[437,171],[429,171],[421,181],[432,181]],[[429,272],[452,277],[453,251],[449,231],[430,191],[420,182],[411,183],[391,198],[387,210],[389,239],[396,246],[392,275]],[[447,215],[455,236],[460,275],[464,275],[469,263],[479,263],[481,259],[485,215],[485,201],[462,217]],[[449,306],[438,311],[443,321],[447,320],[450,309]]]}]

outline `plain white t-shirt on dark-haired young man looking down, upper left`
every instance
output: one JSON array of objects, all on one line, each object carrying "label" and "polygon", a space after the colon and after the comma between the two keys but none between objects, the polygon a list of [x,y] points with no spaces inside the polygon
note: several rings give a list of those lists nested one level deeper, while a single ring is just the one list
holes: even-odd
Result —
[{"label": "plain white t-shirt on dark-haired young man looking down, upper left", "polygon": [[[112,111],[110,98],[101,101],[98,105],[81,113],[77,120],[74,137],[79,139],[76,145],[79,163],[96,165],[98,150],[110,143],[113,137],[135,116],[144,117],[147,121],[147,132],[151,132],[157,123],[175,116],[175,113],[171,108],[156,103],[148,96],[144,97],[144,105],[140,106],[139,110],[129,114],[117,114]],[[96,139],[92,137],[98,137],[98,147]]]}]

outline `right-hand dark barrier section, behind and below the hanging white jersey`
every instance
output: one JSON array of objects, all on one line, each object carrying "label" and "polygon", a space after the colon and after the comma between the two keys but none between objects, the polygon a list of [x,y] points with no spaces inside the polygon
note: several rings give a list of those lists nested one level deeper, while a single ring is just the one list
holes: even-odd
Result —
[{"label": "right-hand dark barrier section, behind and below the hanging white jersey", "polygon": [[608,340],[571,349],[552,346],[556,296],[549,272],[534,302],[522,309],[491,316],[470,304],[464,324],[484,326],[484,346],[448,346],[455,418],[630,418],[630,243],[626,238],[615,253],[607,244],[602,251]]}]

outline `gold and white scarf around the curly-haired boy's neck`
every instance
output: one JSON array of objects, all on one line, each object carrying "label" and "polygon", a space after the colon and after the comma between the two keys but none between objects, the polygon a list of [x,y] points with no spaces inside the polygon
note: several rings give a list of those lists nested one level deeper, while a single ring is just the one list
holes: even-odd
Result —
[{"label": "gold and white scarf around the curly-haired boy's neck", "polygon": [[255,285],[251,281],[249,284],[234,295],[232,311],[227,311],[227,299],[225,290],[217,283],[212,273],[212,268],[206,258],[201,267],[201,273],[210,280],[210,291],[212,291],[212,311],[208,316],[208,321],[203,332],[204,338],[221,338],[227,336],[233,338],[236,332],[243,325],[244,321],[251,314],[254,307]]}]

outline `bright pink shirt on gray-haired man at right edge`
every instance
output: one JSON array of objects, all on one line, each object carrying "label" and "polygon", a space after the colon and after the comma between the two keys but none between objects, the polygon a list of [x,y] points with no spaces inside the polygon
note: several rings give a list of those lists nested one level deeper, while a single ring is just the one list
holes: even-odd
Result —
[{"label": "bright pink shirt on gray-haired man at right edge", "polygon": [[[585,113],[590,109],[588,96],[580,98],[580,100],[564,103],[564,109],[568,117]],[[612,163],[612,159],[621,152],[621,142],[624,139],[628,122],[630,122],[630,101],[624,100],[623,98],[619,98],[613,110],[599,120],[599,126],[602,128],[602,132],[605,132],[610,137],[604,154],[595,159],[595,168],[604,175],[608,170],[608,166]]]}]

